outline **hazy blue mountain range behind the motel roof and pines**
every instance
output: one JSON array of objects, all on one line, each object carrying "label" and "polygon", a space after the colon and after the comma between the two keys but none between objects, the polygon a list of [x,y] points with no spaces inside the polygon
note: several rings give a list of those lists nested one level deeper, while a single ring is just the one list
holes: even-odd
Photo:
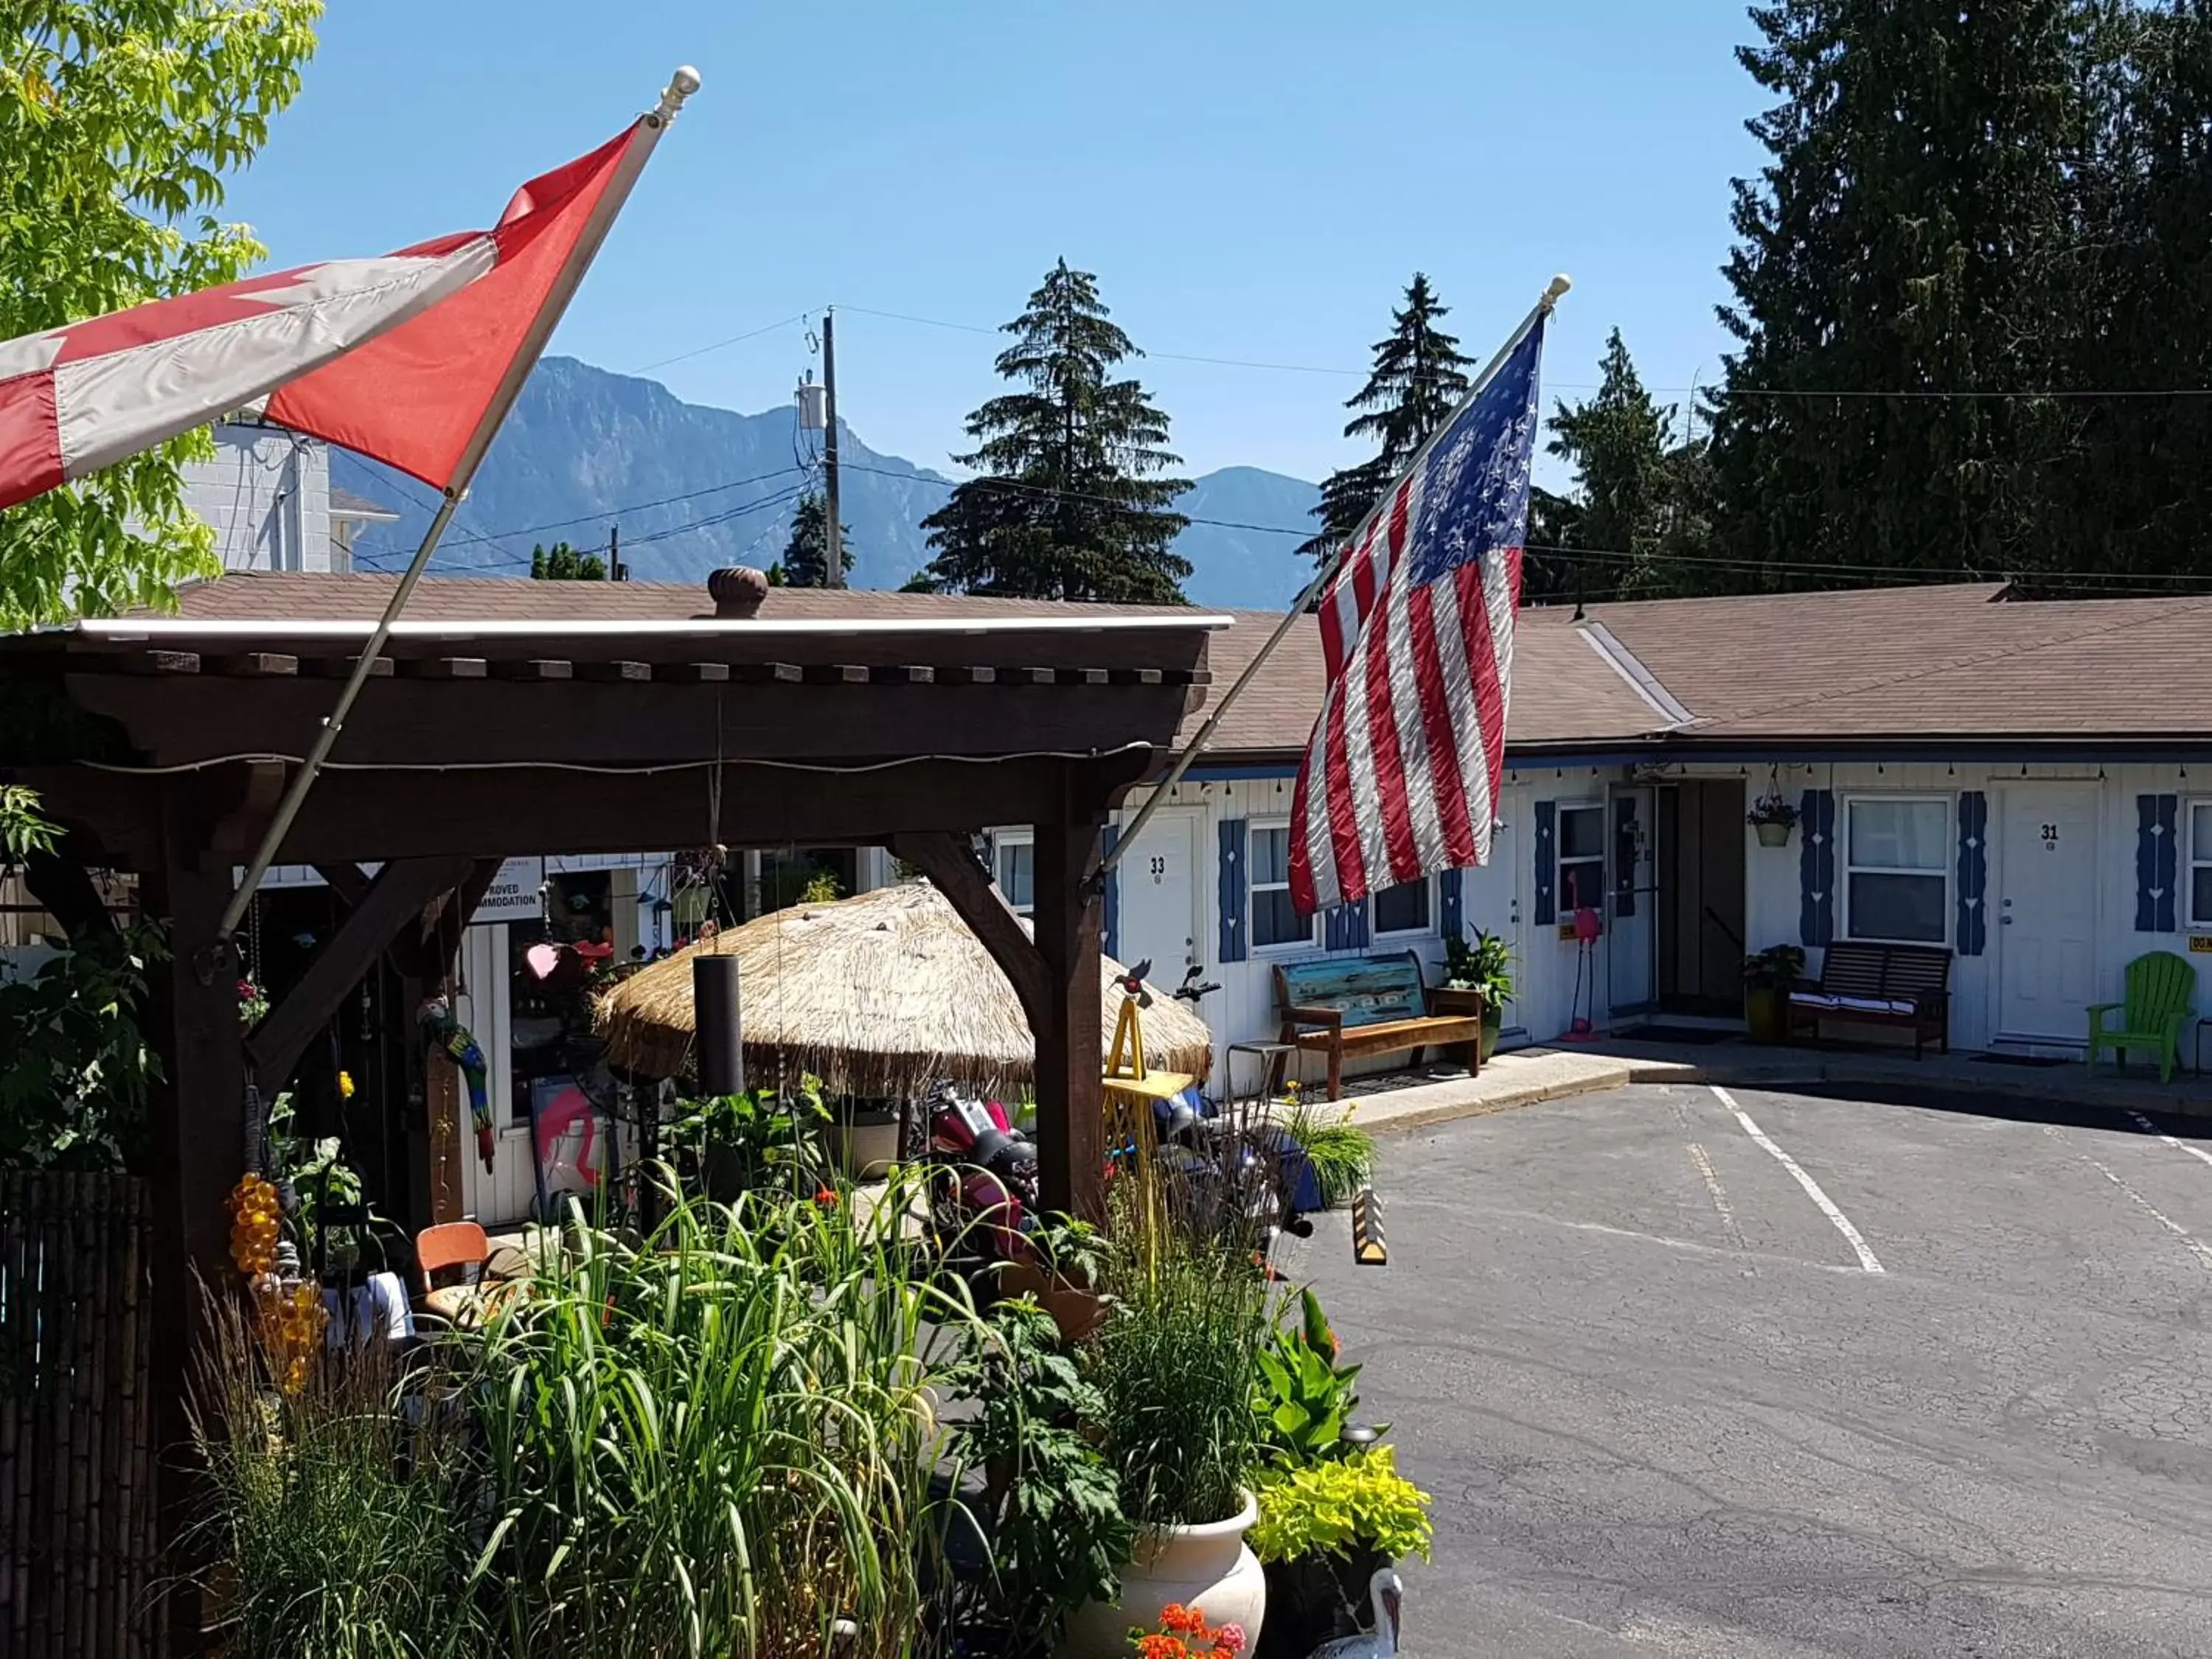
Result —
[{"label": "hazy blue mountain range behind the motel roof and pines", "polygon": [[[737,414],[684,403],[659,380],[549,356],[531,374],[478,469],[434,566],[440,575],[522,575],[531,546],[604,549],[622,531],[622,562],[639,582],[699,582],[721,564],[770,564],[790,535],[803,462],[821,434],[801,434],[792,407]],[[838,422],[852,584],[896,588],[929,562],[922,520],[951,487],[942,473],[869,449]],[[394,571],[429,524],[436,498],[409,478],[338,451],[332,482],[400,511],[365,531],[354,560]],[[1192,518],[1296,529],[1314,484],[1256,467],[1223,467],[1177,502]],[[1283,606],[1305,580],[1296,540],[1192,524],[1175,549],[1197,571],[1192,604]]]}]

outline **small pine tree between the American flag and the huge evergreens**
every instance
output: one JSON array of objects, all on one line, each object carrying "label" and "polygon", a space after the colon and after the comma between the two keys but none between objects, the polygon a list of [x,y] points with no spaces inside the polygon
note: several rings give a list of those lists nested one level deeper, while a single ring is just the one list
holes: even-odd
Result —
[{"label": "small pine tree between the American flag and the huge evergreens", "polygon": [[[1694,591],[1694,566],[1670,564],[1694,551],[1686,540],[1694,544],[1701,533],[1701,524],[1686,522],[1683,498],[1697,447],[1672,440],[1674,416],[1672,405],[1644,389],[1621,332],[1613,330],[1597,394],[1559,403],[1551,416],[1548,449],[1575,469],[1575,495],[1546,502],[1542,524],[1566,538],[1555,546],[1586,555],[1531,553],[1522,571],[1528,597],[1648,599]],[[1528,540],[1544,546],[1535,535]]]}]

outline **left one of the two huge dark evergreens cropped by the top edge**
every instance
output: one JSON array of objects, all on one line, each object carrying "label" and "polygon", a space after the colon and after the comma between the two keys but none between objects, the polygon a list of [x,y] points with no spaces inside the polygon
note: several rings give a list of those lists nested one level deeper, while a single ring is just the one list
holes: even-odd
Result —
[{"label": "left one of the two huge dark evergreens cropped by the top edge", "polygon": [[2079,4],[1752,11],[1763,42],[1739,58],[1776,104],[1750,124],[1772,161],[1736,181],[1725,268],[1743,343],[1714,405],[1728,551],[1962,573],[2035,557],[2039,471],[2073,416],[1953,394],[2064,369]]}]

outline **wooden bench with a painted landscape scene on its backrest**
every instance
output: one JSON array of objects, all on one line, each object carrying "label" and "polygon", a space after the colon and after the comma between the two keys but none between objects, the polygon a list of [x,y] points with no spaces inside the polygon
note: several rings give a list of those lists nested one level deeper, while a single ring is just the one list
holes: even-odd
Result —
[{"label": "wooden bench with a painted landscape scene on its backrest", "polygon": [[[1467,1046],[1467,1071],[1482,1066],[1482,993],[1431,991],[1413,951],[1396,956],[1338,956],[1321,962],[1279,962],[1274,1006],[1283,1042],[1329,1057],[1329,1099],[1343,1099],[1345,1057],[1394,1055]],[[1276,1075],[1281,1084],[1281,1057]]]}]

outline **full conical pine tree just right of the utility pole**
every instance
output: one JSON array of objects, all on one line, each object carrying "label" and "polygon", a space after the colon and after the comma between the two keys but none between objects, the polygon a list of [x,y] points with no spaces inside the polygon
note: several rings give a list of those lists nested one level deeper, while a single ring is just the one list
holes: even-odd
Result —
[{"label": "full conical pine tree just right of the utility pole", "polygon": [[1190,489],[1168,476],[1168,416],[1137,380],[1110,378],[1139,356],[1099,301],[1097,276],[1062,259],[1006,323],[998,372],[1020,392],[967,420],[980,476],[922,520],[933,591],[1029,599],[1181,604],[1190,562],[1172,551],[1190,522],[1170,511]]}]

